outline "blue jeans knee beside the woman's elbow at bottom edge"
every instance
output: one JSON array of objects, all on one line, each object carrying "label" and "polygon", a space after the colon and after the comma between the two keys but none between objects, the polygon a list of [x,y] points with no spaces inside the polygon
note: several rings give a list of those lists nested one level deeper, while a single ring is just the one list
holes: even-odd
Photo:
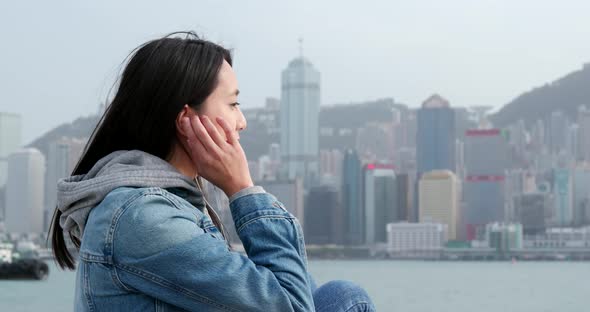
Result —
[{"label": "blue jeans knee beside the woman's elbow at bottom edge", "polygon": [[348,281],[331,281],[319,288],[312,279],[316,312],[374,312],[371,298],[360,286]]}]

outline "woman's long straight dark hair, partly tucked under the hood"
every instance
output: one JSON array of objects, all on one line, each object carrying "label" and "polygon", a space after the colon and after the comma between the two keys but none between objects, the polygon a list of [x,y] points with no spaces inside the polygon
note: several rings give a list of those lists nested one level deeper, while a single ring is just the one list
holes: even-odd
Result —
[{"label": "woman's long straight dark hair, partly tucked under the hood", "polygon": [[[178,114],[185,104],[197,109],[213,92],[224,60],[232,64],[229,50],[193,32],[175,32],[133,50],[117,92],[72,175],[88,173],[98,160],[117,150],[141,150],[167,159],[176,142]],[[206,207],[226,237],[219,217]],[[53,254],[62,269],[74,270],[76,260],[67,249],[60,216],[56,208],[49,229]],[[68,234],[79,250],[80,240]]]}]

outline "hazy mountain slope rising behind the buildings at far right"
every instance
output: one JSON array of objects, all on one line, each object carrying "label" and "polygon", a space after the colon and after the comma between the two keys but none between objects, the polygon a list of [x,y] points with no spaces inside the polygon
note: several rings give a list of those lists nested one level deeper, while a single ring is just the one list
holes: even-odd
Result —
[{"label": "hazy mountain slope rising behind the buildings at far right", "polygon": [[494,125],[505,127],[519,119],[527,125],[546,120],[551,112],[561,110],[576,120],[580,105],[590,108],[590,63],[552,83],[519,95],[490,117]]}]

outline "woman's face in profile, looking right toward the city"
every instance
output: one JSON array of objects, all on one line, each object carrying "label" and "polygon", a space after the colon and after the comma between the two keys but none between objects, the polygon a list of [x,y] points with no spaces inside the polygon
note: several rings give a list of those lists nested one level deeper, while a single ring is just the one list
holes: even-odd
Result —
[{"label": "woman's face in profile, looking right toward the city", "polygon": [[209,117],[226,140],[227,137],[223,128],[216,121],[217,117],[222,117],[231,129],[235,129],[237,138],[240,136],[239,131],[246,129],[246,118],[240,110],[238,93],[236,74],[232,67],[226,61],[223,61],[217,75],[217,87],[201,104],[198,114]]}]

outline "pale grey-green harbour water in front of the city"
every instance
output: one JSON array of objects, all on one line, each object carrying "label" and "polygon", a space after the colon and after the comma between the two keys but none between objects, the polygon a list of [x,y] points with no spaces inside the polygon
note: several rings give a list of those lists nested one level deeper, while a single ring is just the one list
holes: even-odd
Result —
[{"label": "pale grey-green harbour water in front of the city", "polygon": [[[310,261],[318,283],[363,286],[378,311],[578,312],[590,309],[588,262]],[[74,272],[0,281],[0,311],[71,311]]]}]

